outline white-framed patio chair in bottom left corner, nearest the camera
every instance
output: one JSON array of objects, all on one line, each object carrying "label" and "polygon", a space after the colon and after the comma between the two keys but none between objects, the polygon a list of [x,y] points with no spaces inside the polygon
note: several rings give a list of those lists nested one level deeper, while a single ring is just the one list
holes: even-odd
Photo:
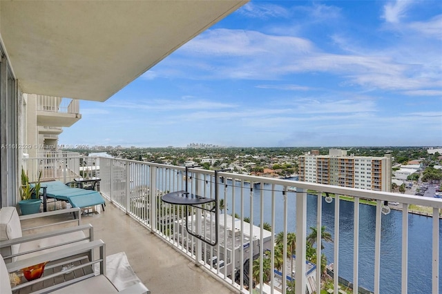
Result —
[{"label": "white-framed patio chair in bottom left corner, nearest the camera", "polygon": [[[93,251],[99,251],[95,258]],[[79,258],[85,258],[86,262],[78,263]],[[13,291],[32,291],[32,293],[131,293],[150,294],[150,291],[138,282],[128,288],[118,291],[106,277],[106,249],[102,240],[79,244],[70,251],[59,250],[46,253],[28,259],[23,259],[10,264],[5,264],[0,258],[0,293],[10,294]],[[22,268],[48,262],[44,268],[43,276],[27,282],[24,277],[21,283],[11,286],[9,274],[20,272]],[[72,267],[66,271],[66,267],[60,265],[69,264]],[[99,264],[99,274],[93,271],[93,265]],[[65,268],[65,269],[64,269]]]}]

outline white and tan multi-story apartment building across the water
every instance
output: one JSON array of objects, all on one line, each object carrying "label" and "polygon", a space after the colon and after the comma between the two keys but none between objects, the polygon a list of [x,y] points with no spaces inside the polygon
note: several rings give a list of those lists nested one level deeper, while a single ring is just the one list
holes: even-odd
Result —
[{"label": "white and tan multi-story apartment building across the water", "polygon": [[301,155],[298,166],[303,182],[381,191],[392,186],[390,155],[354,156],[331,149],[329,155]]}]

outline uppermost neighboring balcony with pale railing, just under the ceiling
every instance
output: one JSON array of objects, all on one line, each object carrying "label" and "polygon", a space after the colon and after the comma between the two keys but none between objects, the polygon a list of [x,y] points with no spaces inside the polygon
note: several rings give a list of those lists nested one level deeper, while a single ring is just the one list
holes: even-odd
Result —
[{"label": "uppermost neighboring balcony with pale railing, just under the ceiling", "polygon": [[37,96],[37,125],[69,127],[79,119],[79,100]]}]

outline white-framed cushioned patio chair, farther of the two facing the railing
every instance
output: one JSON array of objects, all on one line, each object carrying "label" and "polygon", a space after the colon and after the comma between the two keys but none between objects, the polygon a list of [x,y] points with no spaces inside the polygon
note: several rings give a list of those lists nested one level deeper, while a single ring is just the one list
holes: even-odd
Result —
[{"label": "white-framed cushioned patio chair, farther of the two facing the railing", "polygon": [[[28,258],[42,253],[55,251],[60,248],[69,248],[79,243],[93,240],[93,227],[90,224],[80,225],[81,217],[61,222],[51,222],[46,225],[33,226],[23,229],[21,221],[36,222],[39,218],[57,216],[66,213],[77,213],[79,208],[35,213],[19,217],[17,209],[12,206],[0,210],[0,252],[5,262],[15,262],[18,259]],[[72,224],[70,224],[72,223]],[[70,225],[70,226],[69,226]],[[66,228],[66,226],[69,226]],[[50,231],[48,231],[50,230]],[[23,236],[23,231],[30,231]],[[88,231],[85,234],[85,231]]]}]

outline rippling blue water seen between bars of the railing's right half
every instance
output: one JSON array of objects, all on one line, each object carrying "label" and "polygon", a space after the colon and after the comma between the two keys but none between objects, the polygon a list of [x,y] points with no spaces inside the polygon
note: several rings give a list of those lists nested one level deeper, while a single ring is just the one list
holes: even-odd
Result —
[{"label": "rippling blue water seen between bars of the railing's right half", "polygon": [[[271,186],[264,185],[264,222],[271,224]],[[275,190],[280,190],[276,188]],[[253,222],[260,223],[260,190],[253,191]],[[280,193],[277,193],[280,194]],[[240,211],[240,188],[236,188],[235,213]],[[231,195],[230,195],[231,196]],[[295,193],[287,196],[287,227],[296,229]],[[283,229],[283,198],[275,195],[275,229]],[[244,193],[244,216],[250,215],[250,195]],[[233,203],[227,200],[227,213],[232,213]],[[309,227],[316,226],[316,196],[307,197],[307,233]],[[334,204],[327,204],[323,199],[323,226],[334,237]],[[353,228],[354,203],[340,200],[340,235],[339,235],[339,275],[346,280],[353,280]],[[359,208],[359,286],[374,289],[374,236],[376,207],[360,204]],[[408,218],[408,293],[432,293],[432,218],[409,214]],[[392,210],[390,215],[383,215],[381,222],[381,293],[401,293],[401,252],[402,252],[402,212]],[[442,221],[439,221],[439,277],[442,277]],[[334,262],[334,244],[324,242],[327,263]],[[442,282],[439,282],[442,293]]]}]

